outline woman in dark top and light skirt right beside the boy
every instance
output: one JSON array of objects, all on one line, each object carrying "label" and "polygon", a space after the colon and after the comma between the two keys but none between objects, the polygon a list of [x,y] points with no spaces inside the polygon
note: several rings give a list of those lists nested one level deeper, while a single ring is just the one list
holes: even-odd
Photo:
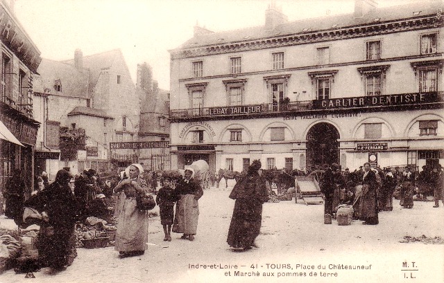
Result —
[{"label": "woman in dark top and light skirt right beside the boy", "polygon": [[203,189],[198,181],[194,180],[194,169],[185,168],[185,178],[176,184],[176,194],[179,199],[176,204],[176,217],[173,232],[183,233],[182,239],[194,240],[199,218],[198,200],[203,196]]}]

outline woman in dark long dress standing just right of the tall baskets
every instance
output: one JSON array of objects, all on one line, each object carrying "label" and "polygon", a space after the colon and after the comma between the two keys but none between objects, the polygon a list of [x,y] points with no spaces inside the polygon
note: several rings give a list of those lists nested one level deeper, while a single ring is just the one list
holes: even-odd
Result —
[{"label": "woman in dark long dress standing just right of the tall baskets", "polygon": [[362,177],[361,220],[363,224],[376,225],[379,223],[377,208],[377,180],[376,174],[370,169],[370,163],[364,163]]}]

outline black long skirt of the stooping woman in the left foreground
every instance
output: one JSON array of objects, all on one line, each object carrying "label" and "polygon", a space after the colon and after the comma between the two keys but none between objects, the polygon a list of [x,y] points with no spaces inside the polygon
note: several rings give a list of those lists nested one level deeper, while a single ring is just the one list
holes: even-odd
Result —
[{"label": "black long skirt of the stooping woman in the left foreground", "polygon": [[[46,231],[53,230],[49,235]],[[40,228],[36,242],[40,267],[69,266],[77,256],[76,235],[72,227]]]}]

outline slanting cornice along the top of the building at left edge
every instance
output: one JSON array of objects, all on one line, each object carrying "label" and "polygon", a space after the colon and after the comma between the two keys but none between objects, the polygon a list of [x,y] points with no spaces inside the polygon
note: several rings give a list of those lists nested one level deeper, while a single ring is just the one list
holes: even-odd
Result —
[{"label": "slanting cornice along the top of the building at left edge", "polygon": [[40,52],[3,6],[0,6],[0,39],[31,71],[37,72],[42,61]]}]

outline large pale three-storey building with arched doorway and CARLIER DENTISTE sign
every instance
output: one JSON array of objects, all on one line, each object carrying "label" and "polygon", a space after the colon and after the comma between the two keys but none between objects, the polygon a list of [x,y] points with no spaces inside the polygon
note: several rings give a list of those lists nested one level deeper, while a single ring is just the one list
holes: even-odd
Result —
[{"label": "large pale three-storey building with arched doorway and CARLIER DENTISTE sign", "polygon": [[351,170],[444,163],[443,2],[194,37],[171,50],[171,163]]}]

